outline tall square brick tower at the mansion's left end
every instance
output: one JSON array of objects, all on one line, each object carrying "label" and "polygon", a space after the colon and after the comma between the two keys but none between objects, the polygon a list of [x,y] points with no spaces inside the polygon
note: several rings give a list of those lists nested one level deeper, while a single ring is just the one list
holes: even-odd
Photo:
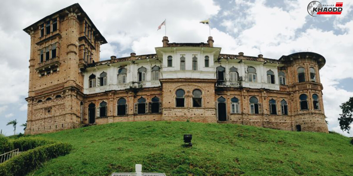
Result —
[{"label": "tall square brick tower at the mansion's left end", "polygon": [[83,73],[107,43],[79,4],[24,29],[31,36],[25,133],[78,126],[83,118]]}]

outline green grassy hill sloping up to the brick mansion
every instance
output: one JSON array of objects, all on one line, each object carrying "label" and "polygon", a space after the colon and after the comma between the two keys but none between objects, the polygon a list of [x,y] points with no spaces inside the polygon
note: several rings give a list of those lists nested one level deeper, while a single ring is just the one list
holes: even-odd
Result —
[{"label": "green grassy hill sloping up to the brick mansion", "polygon": [[[193,147],[182,146],[183,134]],[[28,176],[109,176],[112,172],[196,175],[353,174],[353,145],[339,134],[290,132],[235,124],[119,122],[41,134],[73,151]]]}]

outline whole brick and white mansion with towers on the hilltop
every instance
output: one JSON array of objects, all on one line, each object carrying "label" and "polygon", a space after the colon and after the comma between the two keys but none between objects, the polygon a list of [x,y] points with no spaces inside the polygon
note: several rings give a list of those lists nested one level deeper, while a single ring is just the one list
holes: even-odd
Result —
[{"label": "whole brick and white mansion with towers on the hilltop", "polygon": [[106,39],[79,4],[24,29],[31,37],[28,117],[36,134],[120,121],[224,122],[328,132],[319,70],[325,58],[221,54],[214,40],[100,61]]}]

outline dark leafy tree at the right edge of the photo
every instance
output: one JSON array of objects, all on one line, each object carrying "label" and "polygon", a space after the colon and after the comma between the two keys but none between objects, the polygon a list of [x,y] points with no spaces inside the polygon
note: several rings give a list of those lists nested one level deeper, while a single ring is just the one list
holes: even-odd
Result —
[{"label": "dark leafy tree at the right edge of the photo", "polygon": [[349,133],[353,122],[353,97],[349,98],[347,102],[342,103],[340,108],[342,109],[342,114],[340,114],[338,120],[340,121],[341,130]]}]

